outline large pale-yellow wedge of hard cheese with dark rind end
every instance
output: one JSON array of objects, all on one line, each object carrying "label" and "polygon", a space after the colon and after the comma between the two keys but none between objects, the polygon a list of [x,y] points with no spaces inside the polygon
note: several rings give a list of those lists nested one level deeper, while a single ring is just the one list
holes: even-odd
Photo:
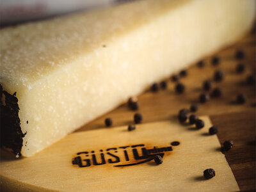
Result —
[{"label": "large pale-yellow wedge of hard cheese with dark rind end", "polygon": [[135,1],[0,31],[1,146],[32,156],[250,29],[255,1]]}]

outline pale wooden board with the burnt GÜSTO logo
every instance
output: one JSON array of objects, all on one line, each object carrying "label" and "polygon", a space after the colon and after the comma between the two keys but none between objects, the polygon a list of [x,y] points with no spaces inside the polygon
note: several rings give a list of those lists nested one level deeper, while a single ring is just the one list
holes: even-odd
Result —
[{"label": "pale wooden board with the burnt G\u00dcSTO logo", "polygon": [[[216,135],[178,120],[74,132],[31,158],[0,160],[3,191],[239,191]],[[179,143],[178,143],[179,142]],[[162,156],[163,164],[148,161]],[[73,162],[73,163],[72,163]],[[204,170],[216,176],[204,179]]]}]

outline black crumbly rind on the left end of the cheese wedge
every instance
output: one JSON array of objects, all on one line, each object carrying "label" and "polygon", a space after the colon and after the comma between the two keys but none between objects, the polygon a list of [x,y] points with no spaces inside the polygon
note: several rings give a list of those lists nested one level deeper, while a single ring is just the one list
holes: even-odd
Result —
[{"label": "black crumbly rind on the left end of the cheese wedge", "polygon": [[1,88],[1,147],[10,148],[16,157],[21,156],[20,151],[25,134],[21,131],[19,118],[19,105],[15,93],[10,93]]}]

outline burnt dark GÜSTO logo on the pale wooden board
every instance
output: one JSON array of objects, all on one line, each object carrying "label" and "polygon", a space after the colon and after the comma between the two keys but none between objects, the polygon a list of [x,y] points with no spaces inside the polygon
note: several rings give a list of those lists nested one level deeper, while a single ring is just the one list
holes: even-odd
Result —
[{"label": "burnt dark G\u00dcSTO logo on the pale wooden board", "polygon": [[[144,144],[127,145],[122,147],[106,148],[97,151],[78,152],[77,157],[72,160],[72,164],[79,167],[88,167],[100,164],[115,164],[113,166],[132,166],[146,163],[154,159],[154,156],[164,156],[165,152],[173,150],[173,146],[180,145],[179,141],[173,141],[167,147],[147,148]],[[138,152],[141,151],[141,152]]]}]

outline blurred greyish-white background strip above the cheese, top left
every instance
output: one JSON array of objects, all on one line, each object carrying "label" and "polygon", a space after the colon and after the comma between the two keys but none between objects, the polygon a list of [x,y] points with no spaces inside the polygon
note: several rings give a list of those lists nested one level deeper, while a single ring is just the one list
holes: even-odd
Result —
[{"label": "blurred greyish-white background strip above the cheese, top left", "polygon": [[47,19],[126,1],[132,0],[0,0],[0,26]]}]

